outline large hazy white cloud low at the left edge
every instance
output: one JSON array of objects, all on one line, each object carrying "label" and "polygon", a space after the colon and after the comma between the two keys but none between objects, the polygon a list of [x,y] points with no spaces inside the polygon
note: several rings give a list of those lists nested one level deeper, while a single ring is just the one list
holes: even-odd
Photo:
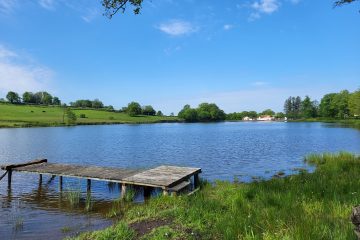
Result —
[{"label": "large hazy white cloud low at the left edge", "polygon": [[0,45],[0,92],[49,90],[53,71]]}]

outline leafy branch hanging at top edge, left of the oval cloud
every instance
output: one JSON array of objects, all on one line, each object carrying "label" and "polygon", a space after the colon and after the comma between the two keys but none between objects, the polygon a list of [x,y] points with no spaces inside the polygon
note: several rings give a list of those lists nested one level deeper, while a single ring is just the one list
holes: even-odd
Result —
[{"label": "leafy branch hanging at top edge, left of the oval cloud", "polygon": [[102,0],[102,5],[105,8],[105,16],[112,18],[116,13],[125,12],[130,5],[134,9],[134,14],[139,14],[143,0]]}]

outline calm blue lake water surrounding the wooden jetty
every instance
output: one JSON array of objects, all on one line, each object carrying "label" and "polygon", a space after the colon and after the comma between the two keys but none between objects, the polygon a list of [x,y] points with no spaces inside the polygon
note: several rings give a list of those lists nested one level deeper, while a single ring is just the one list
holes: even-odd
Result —
[{"label": "calm blue lake water surrounding the wooden jetty", "polygon": [[[208,180],[250,180],[307,167],[309,153],[360,153],[360,131],[322,123],[214,123],[108,125],[0,129],[0,164],[47,158],[50,162],[126,168],[161,164],[203,169]],[[0,172],[1,174],[2,172]],[[117,186],[94,182],[94,209],[69,209],[57,179],[16,174],[11,192],[0,182],[0,239],[61,238],[110,224],[104,212],[119,196]],[[78,180],[65,186],[84,191]]]}]

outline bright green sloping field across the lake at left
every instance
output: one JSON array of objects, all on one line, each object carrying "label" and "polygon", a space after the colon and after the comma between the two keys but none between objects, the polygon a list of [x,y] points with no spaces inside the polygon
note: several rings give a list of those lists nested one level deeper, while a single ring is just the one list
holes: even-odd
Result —
[{"label": "bright green sloping field across the lake at left", "polygon": [[[76,125],[177,122],[177,117],[136,116],[93,109],[72,109]],[[57,106],[0,104],[0,127],[63,126],[64,109]],[[85,114],[85,118],[80,118]],[[65,120],[66,122],[66,120]]]}]

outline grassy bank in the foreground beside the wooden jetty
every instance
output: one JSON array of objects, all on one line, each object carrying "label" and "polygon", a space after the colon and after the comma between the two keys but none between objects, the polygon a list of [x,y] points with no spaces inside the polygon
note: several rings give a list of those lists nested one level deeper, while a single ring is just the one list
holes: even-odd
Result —
[{"label": "grassy bank in the foreground beside the wooden jetty", "polygon": [[355,239],[349,216],[360,203],[360,157],[307,161],[316,165],[314,173],[217,182],[193,196],[152,199],[125,211],[116,226],[78,239]]}]

